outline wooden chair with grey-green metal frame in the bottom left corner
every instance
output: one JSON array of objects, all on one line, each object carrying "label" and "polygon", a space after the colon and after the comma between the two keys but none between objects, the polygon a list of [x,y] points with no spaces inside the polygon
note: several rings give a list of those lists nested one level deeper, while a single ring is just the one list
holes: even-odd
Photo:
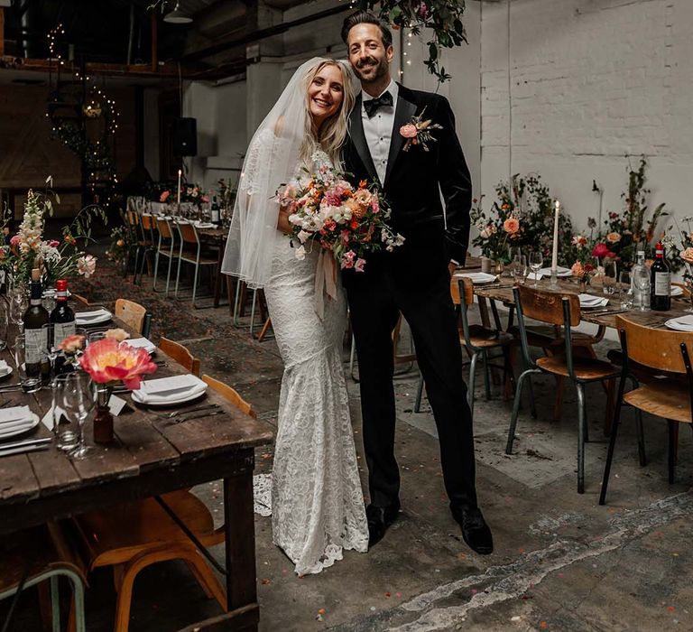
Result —
[{"label": "wooden chair with grey-green metal frame in the bottom left corner", "polygon": [[[53,632],[60,632],[60,577],[67,579],[72,588],[68,629],[85,632],[84,587],[87,579],[84,563],[69,546],[60,526],[49,523],[3,536],[0,544],[0,600],[17,599],[22,590],[35,585],[41,590],[45,586],[43,582],[48,581]],[[13,609],[14,604],[6,615],[5,625],[12,617]]]}]

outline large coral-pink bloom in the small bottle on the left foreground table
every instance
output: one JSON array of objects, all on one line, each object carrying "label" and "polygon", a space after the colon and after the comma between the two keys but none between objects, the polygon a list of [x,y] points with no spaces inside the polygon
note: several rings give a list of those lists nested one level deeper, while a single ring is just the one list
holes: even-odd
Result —
[{"label": "large coral-pink bloom in the small bottle on the left foreground table", "polygon": [[156,365],[144,349],[135,349],[112,338],[90,344],[79,363],[98,384],[123,382],[126,388],[133,390],[140,387],[143,375],[156,371]]}]

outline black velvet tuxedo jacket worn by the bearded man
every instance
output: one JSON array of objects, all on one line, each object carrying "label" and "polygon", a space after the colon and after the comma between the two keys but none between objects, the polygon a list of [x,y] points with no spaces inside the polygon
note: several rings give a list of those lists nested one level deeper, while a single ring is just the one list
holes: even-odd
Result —
[{"label": "black velvet tuxedo jacket worn by the bearded man", "polygon": [[[392,207],[393,228],[404,237],[414,236],[425,228],[446,223],[446,256],[465,261],[469,242],[469,209],[472,205],[472,184],[462,147],[455,133],[455,116],[448,99],[430,92],[399,86],[394,113],[393,136],[383,185],[385,200]],[[400,127],[411,122],[424,110],[423,119],[442,125],[431,135],[425,152],[420,144],[404,152],[405,139]],[[361,120],[361,95],[349,116],[349,134],[342,157],[345,169],[355,181],[378,180],[375,165],[365,141]],[[445,209],[440,200],[442,192]],[[429,227],[425,226],[429,225]],[[442,229],[442,228],[441,228]]]}]

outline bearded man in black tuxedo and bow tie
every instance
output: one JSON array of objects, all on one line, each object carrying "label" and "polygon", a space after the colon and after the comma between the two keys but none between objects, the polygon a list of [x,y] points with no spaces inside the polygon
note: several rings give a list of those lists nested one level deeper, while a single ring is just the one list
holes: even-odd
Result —
[{"label": "bearded man in black tuxedo and bow tie", "polygon": [[[371,497],[366,507],[369,544],[383,537],[400,510],[392,332],[402,311],[438,427],[452,516],[474,551],[492,553],[491,530],[476,505],[472,415],[450,297],[450,274],[467,254],[472,197],[455,118],[446,98],[391,79],[392,34],[374,14],[349,15],[342,39],[363,88],[349,119],[345,168],[356,181],[380,181],[393,209],[393,228],[406,238],[393,253],[369,256],[365,272],[344,274],[360,375]],[[401,128],[414,116],[442,126],[431,131],[435,140],[426,143],[429,151],[420,138],[404,151]]]}]

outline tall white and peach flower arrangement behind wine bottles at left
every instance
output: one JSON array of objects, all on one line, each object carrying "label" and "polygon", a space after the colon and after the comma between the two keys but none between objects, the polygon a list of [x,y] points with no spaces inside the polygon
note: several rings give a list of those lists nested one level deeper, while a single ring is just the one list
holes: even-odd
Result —
[{"label": "tall white and peach flower arrangement behind wine bottles at left", "polygon": [[[51,181],[51,178],[47,182]],[[60,203],[58,195],[54,196]],[[79,242],[91,240],[91,220],[95,216],[106,223],[106,214],[97,206],[81,209],[72,222],[62,228],[62,239],[44,239],[43,228],[46,215],[52,214],[51,191],[36,193],[29,191],[24,204],[24,217],[17,234],[9,244],[0,246],[0,268],[12,276],[14,283],[29,283],[33,268],[42,271],[44,287],[51,286],[57,279],[80,274],[88,278],[97,267],[95,256],[79,249]],[[3,231],[9,235],[11,215],[5,212]]]}]

